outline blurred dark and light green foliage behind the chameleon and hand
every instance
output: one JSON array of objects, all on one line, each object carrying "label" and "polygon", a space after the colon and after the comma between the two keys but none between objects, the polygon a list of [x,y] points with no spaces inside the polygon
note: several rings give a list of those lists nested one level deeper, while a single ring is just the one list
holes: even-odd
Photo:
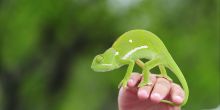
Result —
[{"label": "blurred dark and light green foliage behind the chameleon and hand", "polygon": [[[126,67],[93,57],[136,28],[158,35],[190,88],[184,110],[220,104],[217,0],[0,0],[0,110],[116,110]],[[138,70],[138,69],[137,69]]]}]

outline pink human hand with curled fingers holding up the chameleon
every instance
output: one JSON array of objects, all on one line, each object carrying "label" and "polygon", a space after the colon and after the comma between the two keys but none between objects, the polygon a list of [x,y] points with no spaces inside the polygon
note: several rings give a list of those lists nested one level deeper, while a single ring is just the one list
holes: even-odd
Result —
[{"label": "pink human hand with curled fingers holding up the chameleon", "polygon": [[[127,87],[120,88],[118,95],[119,110],[181,110],[184,101],[183,89],[162,77],[150,75],[152,85],[138,88],[141,74],[132,73]],[[161,103],[160,100],[170,100],[177,106]]]}]

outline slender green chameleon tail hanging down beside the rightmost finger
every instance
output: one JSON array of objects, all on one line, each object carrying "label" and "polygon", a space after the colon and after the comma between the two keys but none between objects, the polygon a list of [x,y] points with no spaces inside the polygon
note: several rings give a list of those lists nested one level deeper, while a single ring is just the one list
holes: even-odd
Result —
[{"label": "slender green chameleon tail hanging down beside the rightmost finger", "polygon": [[[172,58],[171,58],[172,59]],[[168,65],[168,68],[176,75],[176,77],[178,78],[178,80],[180,81],[184,92],[185,92],[185,99],[184,102],[182,103],[181,106],[185,105],[186,102],[188,101],[188,97],[189,97],[189,88],[186,82],[185,77],[183,76],[183,73],[181,72],[181,70],[179,69],[178,65],[175,63],[175,61],[172,59],[172,61],[170,61],[171,64]]]}]

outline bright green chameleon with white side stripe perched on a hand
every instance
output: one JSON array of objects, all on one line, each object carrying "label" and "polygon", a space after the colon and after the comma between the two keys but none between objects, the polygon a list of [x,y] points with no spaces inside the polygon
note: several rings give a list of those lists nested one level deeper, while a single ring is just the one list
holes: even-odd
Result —
[{"label": "bright green chameleon with white side stripe perched on a hand", "polygon": [[[141,59],[147,59],[149,61],[143,63]],[[124,33],[114,42],[111,48],[94,58],[91,68],[97,72],[105,72],[120,68],[123,65],[128,65],[127,72],[119,84],[119,87],[125,87],[135,63],[143,70],[143,80],[138,87],[150,85],[148,83],[150,70],[156,66],[159,66],[160,77],[171,80],[166,72],[166,68],[169,68],[177,76],[185,92],[185,100],[181,106],[186,104],[189,89],[181,70],[163,42],[149,31],[137,29]],[[168,100],[161,100],[161,102],[175,105]]]}]

